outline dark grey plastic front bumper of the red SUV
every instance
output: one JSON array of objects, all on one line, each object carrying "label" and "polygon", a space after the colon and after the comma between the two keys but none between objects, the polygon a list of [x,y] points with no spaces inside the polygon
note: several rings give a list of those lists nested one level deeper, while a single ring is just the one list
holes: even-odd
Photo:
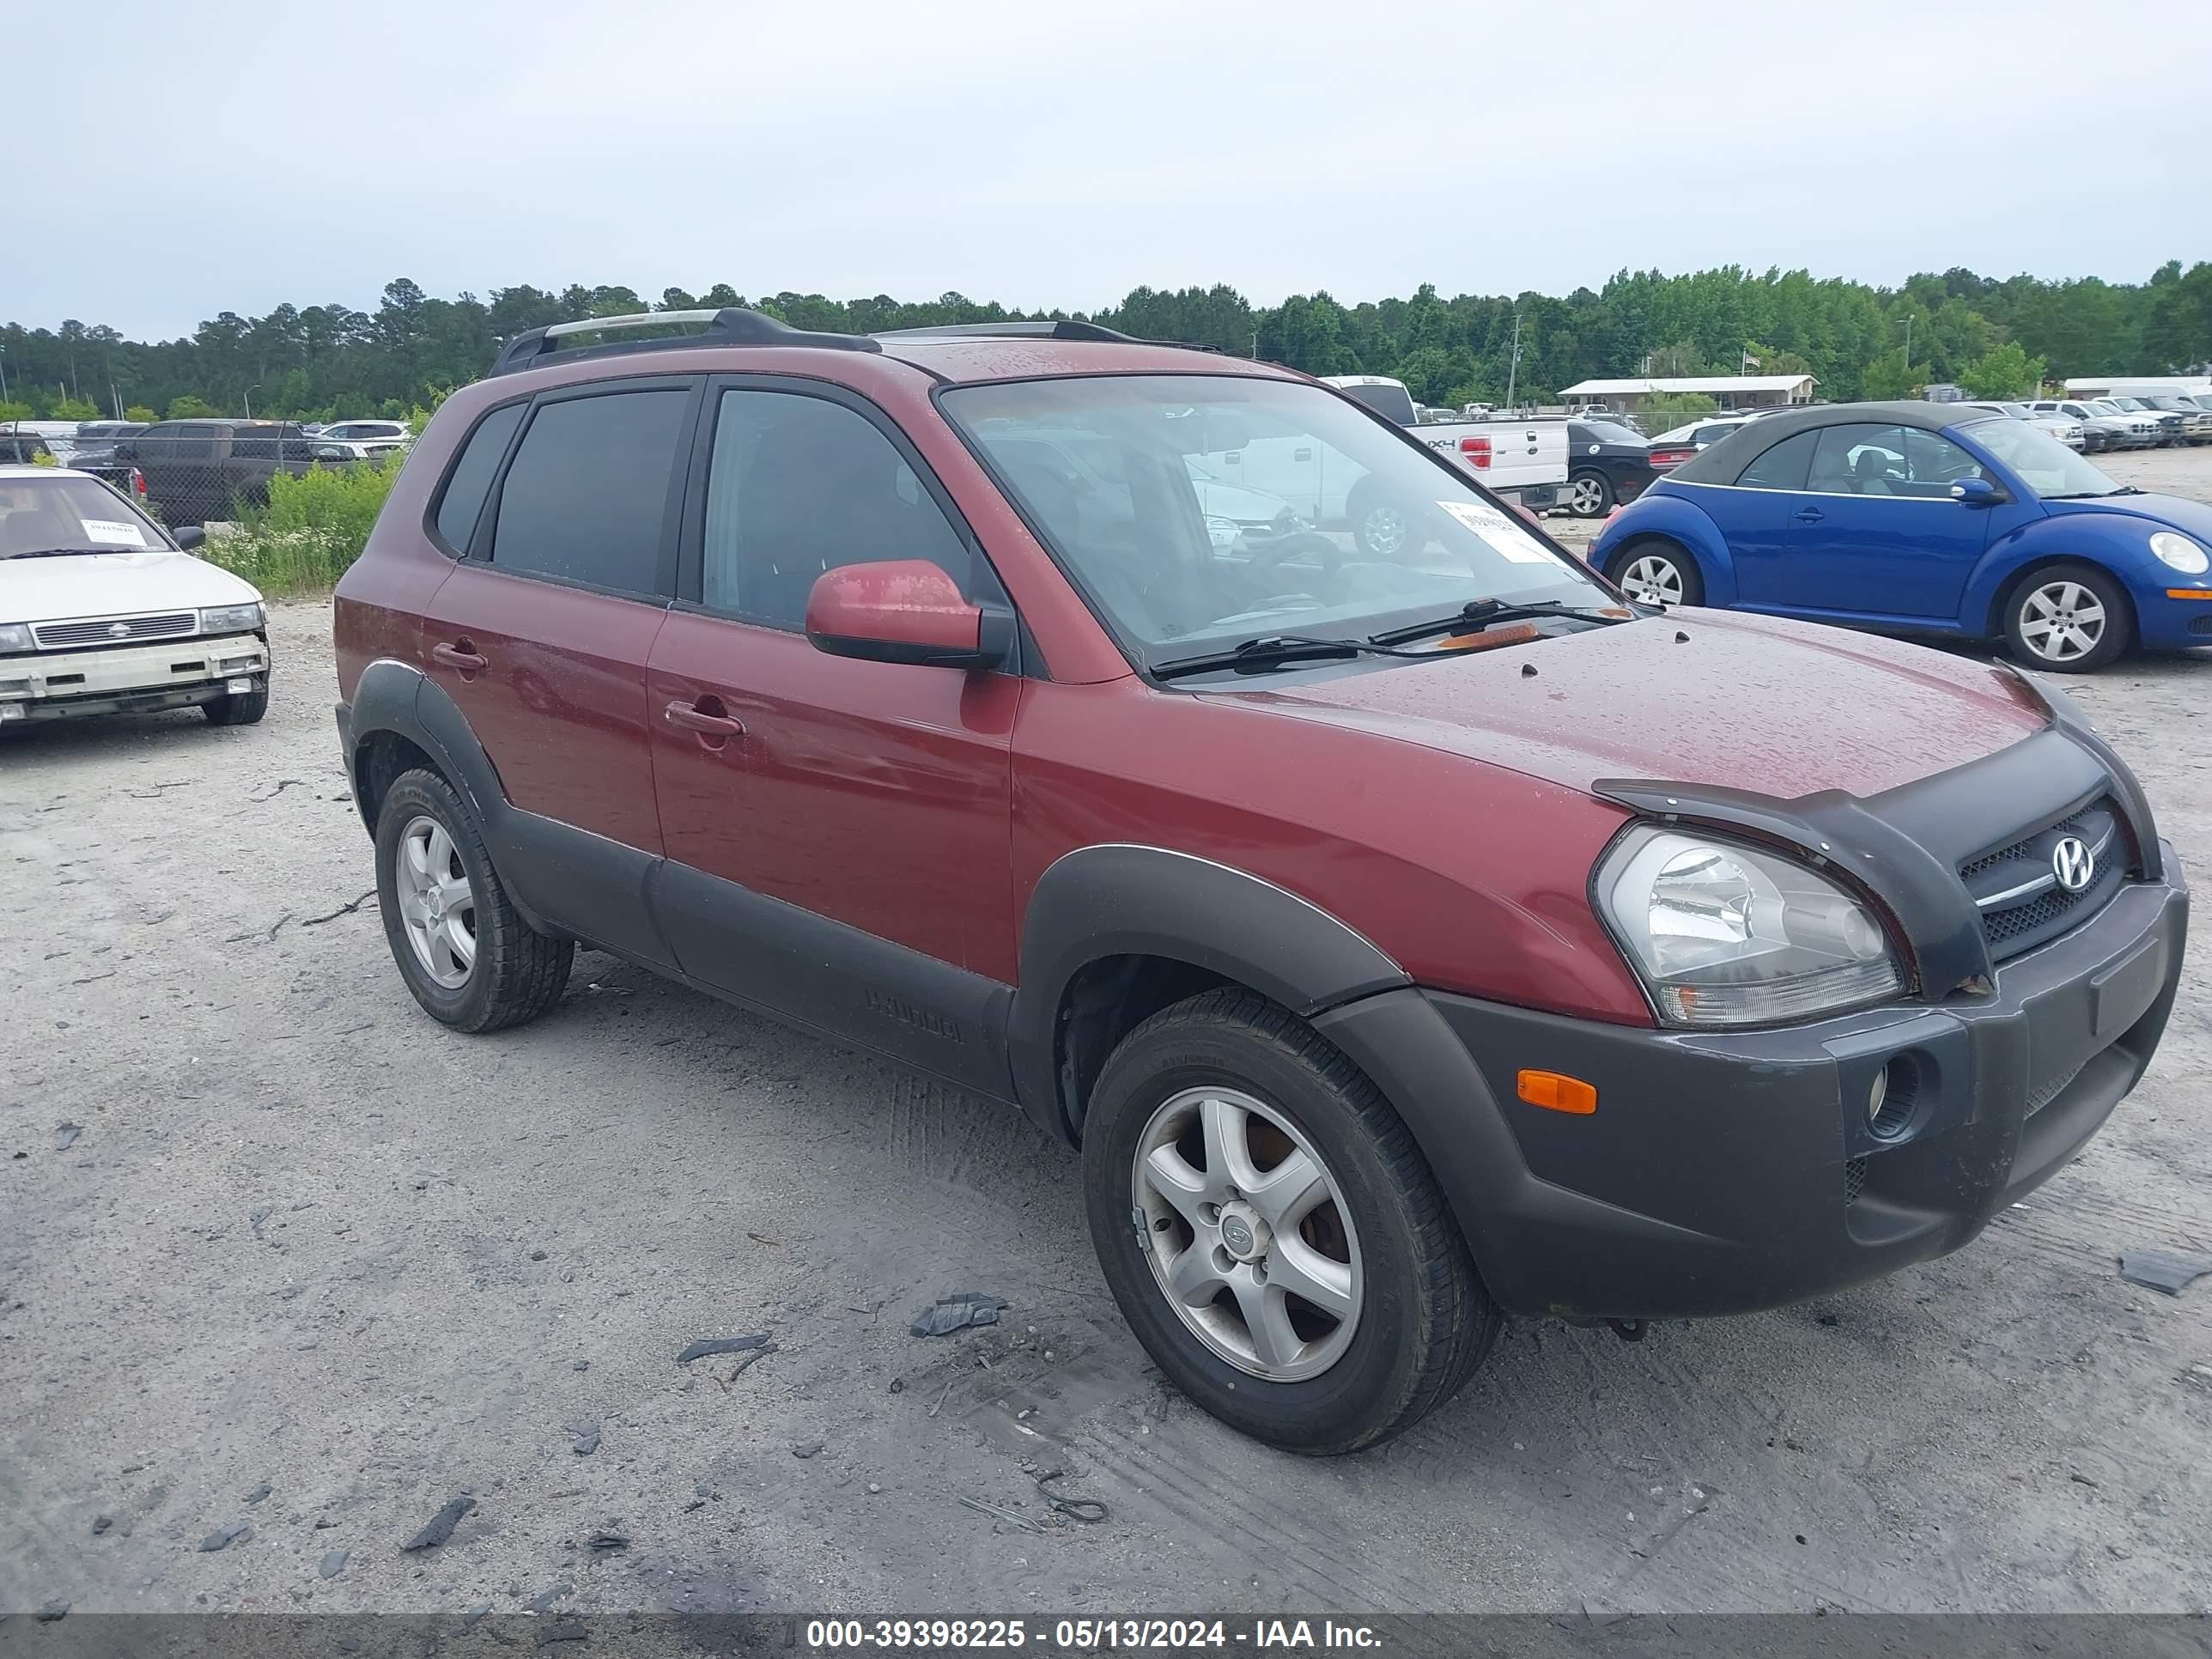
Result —
[{"label": "dark grey plastic front bumper of the red SUV", "polygon": [[[2048,1179],[2150,1064],[2185,936],[2166,847],[1991,995],[1688,1033],[1409,989],[1316,1024],[1420,1139],[1506,1310],[1734,1314],[1958,1250]],[[1595,1084],[1597,1110],[1524,1104],[1522,1068]],[[1885,1071],[1911,1108],[1876,1135]]]}]

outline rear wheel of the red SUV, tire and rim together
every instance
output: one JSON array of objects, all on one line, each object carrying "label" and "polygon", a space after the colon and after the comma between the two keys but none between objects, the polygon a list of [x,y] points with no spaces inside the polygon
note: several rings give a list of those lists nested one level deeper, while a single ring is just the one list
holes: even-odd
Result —
[{"label": "rear wheel of the red SUV, tire and rim together", "polygon": [[[407,843],[418,845],[416,856]],[[425,874],[403,876],[403,858]],[[431,869],[440,872],[436,880]],[[442,902],[431,920],[409,920],[422,916],[429,887]],[[385,792],[376,814],[376,905],[414,1000],[456,1031],[524,1024],[568,987],[575,942],[522,920],[491,867],[476,816],[436,772],[405,772]]]}]

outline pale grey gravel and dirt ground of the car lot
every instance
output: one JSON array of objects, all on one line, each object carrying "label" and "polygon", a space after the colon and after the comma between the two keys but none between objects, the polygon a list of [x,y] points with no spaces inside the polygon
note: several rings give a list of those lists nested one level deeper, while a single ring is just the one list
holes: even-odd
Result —
[{"label": "pale grey gravel and dirt ground of the car lot", "polygon": [[[2212,451],[2108,465],[2212,498]],[[604,956],[531,1029],[434,1026],[327,606],[274,641],[259,728],[0,739],[0,1613],[2212,1599],[2212,1281],[2115,1274],[2212,1250],[2203,933],[2137,1095],[1962,1254],[1637,1347],[1517,1323],[1413,1433],[1307,1462],[1159,1383],[1011,1113]],[[2079,695],[2212,869],[2212,655]],[[1006,1323],[911,1338],[956,1290]],[[677,1363],[748,1332],[734,1376]]]}]

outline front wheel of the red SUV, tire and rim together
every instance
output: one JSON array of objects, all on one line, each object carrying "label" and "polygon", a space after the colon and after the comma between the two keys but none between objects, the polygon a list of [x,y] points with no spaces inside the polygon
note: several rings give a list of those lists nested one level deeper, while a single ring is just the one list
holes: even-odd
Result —
[{"label": "front wheel of the red SUV, tire and rim together", "polygon": [[[1230,1148],[1217,1159],[1210,1124]],[[1301,1155],[1318,1181],[1285,1208],[1267,1179]],[[1243,1170],[1243,1186],[1212,1164]],[[1161,1168],[1183,1181],[1146,1179]],[[1223,1190],[1225,1208],[1210,1197]],[[1451,1398],[1498,1336],[1498,1305],[1389,1102],[1250,991],[1179,1002],[1113,1051],[1084,1119],[1084,1199],[1106,1283],[1159,1369],[1285,1451],[1389,1440]],[[1270,1214],[1294,1217],[1294,1232],[1270,1237]],[[1175,1296],[1168,1276],[1183,1263],[1190,1292]],[[1349,1312],[1318,1314],[1294,1283]],[[1199,1305],[1208,1285],[1214,1301]]]}]

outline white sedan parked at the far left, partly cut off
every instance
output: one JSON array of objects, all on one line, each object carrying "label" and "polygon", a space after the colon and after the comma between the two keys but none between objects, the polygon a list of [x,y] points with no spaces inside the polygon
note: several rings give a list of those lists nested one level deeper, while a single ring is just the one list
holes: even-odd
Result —
[{"label": "white sedan parked at the far left, partly cut off", "polygon": [[91,473],[0,467],[0,728],[159,708],[259,721],[261,595],[192,557],[199,542]]}]

